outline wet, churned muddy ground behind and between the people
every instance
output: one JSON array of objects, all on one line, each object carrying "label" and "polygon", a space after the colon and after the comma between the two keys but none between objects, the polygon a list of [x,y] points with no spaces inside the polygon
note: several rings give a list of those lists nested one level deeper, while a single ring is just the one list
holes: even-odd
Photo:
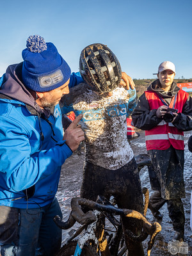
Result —
[{"label": "wet, churned muddy ground behind and between the people", "polygon": [[[185,166],[184,166],[184,179],[186,184],[186,198],[182,201],[184,203],[184,211],[186,214],[186,225],[185,225],[185,236],[184,241],[188,244],[188,254],[183,252],[177,253],[177,255],[192,255],[192,231],[189,227],[190,218],[190,196],[191,196],[191,178],[192,178],[192,153],[189,152],[187,147],[188,138],[192,132],[185,132]],[[130,141],[132,150],[135,155],[141,153],[147,153],[145,148],[145,133],[140,131],[140,137]],[[57,198],[61,205],[61,210],[63,212],[63,220],[67,220],[68,214],[70,212],[70,200],[74,196],[79,196],[81,188],[81,180],[83,173],[83,161],[84,152],[81,150],[82,154],[79,156],[74,153],[71,157],[67,159],[65,164],[63,164],[61,170],[60,185],[58,188]],[[151,193],[150,182],[148,179],[147,168],[143,168],[140,172],[141,184],[149,189]],[[166,204],[161,208],[161,213],[163,214],[163,221],[161,222],[162,230],[157,235],[154,247],[152,248],[152,256],[166,256],[173,255],[168,252],[168,242],[172,241],[174,230],[172,227],[172,221],[168,216],[168,210]],[[152,216],[150,210],[147,211],[147,219],[150,223],[156,221]],[[76,226],[77,227],[77,224]],[[68,230],[63,230],[63,243],[68,238]],[[148,239],[147,239],[148,241]],[[143,247],[147,255],[147,241],[143,242]]]}]

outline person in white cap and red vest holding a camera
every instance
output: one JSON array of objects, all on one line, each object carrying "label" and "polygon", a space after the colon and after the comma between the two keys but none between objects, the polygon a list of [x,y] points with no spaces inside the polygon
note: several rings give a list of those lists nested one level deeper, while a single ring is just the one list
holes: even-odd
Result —
[{"label": "person in white cap and red vest holding a camera", "polygon": [[173,81],[175,65],[164,61],[159,65],[158,79],[148,86],[132,112],[132,123],[145,130],[146,147],[152,159],[148,168],[154,193],[148,208],[156,218],[167,203],[175,234],[184,237],[184,133],[192,129],[192,99]]}]

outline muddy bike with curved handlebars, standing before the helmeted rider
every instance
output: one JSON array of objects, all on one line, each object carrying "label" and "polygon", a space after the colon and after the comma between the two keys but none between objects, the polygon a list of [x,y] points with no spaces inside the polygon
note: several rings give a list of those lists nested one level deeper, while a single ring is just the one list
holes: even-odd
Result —
[{"label": "muddy bike with curved handlebars, standing before the helmeted rider", "polygon": [[[139,171],[143,166],[150,165],[150,159],[148,156],[146,157],[146,154],[140,154],[136,158],[136,162],[138,164]],[[148,234],[150,234],[150,241],[148,242],[148,249],[147,249],[147,255],[150,255],[150,250],[152,249],[152,246],[154,244],[154,239],[158,232],[161,231],[161,225],[159,223],[155,222],[153,224],[150,224],[148,220],[145,218],[148,208],[148,189],[143,188],[142,189],[143,194],[145,195],[145,205],[144,205],[144,214],[141,214],[140,212],[129,210],[129,209],[119,209],[114,206],[114,204],[110,204],[106,198],[103,198],[102,196],[97,200],[97,202],[94,202],[92,200],[88,200],[85,198],[72,198],[71,200],[71,207],[72,211],[70,213],[70,216],[66,222],[61,221],[60,217],[56,216],[54,218],[54,221],[56,222],[56,225],[58,227],[63,229],[68,229],[74,225],[74,223],[77,221],[81,223],[83,226],[77,230],[77,232],[72,236],[70,239],[68,239],[68,242],[72,241],[74,237],[81,234],[81,232],[86,228],[86,232],[83,236],[81,236],[77,241],[76,250],[74,253],[74,256],[81,256],[82,250],[84,248],[84,245],[87,242],[91,242],[95,244],[97,252],[101,252],[102,256],[111,256],[111,253],[109,252],[109,246],[108,241],[106,239],[106,234],[104,232],[104,222],[100,221],[102,216],[106,216],[108,220],[113,224],[113,226],[116,228],[118,227],[120,223],[115,219],[113,220],[113,214],[119,215],[119,216],[125,216],[127,218],[136,218],[137,220],[143,221],[143,234],[140,236],[134,235],[131,230],[127,230],[126,234],[127,236],[131,237],[132,241],[144,241]],[[92,209],[92,211],[88,211],[84,214],[84,212],[81,209],[81,206],[87,207],[88,209]],[[109,214],[109,216],[108,216]],[[98,223],[100,221],[100,227],[98,228]],[[116,231],[118,228],[116,228]],[[117,231],[118,232],[118,231]],[[113,244],[113,251],[118,252],[118,244],[120,243],[120,239],[118,237],[118,234],[116,234],[118,238],[118,243],[115,245]],[[68,243],[67,243],[68,244]],[[125,247],[125,250],[127,248]],[[94,255],[97,255],[94,254]],[[123,252],[118,254],[123,255]]]}]

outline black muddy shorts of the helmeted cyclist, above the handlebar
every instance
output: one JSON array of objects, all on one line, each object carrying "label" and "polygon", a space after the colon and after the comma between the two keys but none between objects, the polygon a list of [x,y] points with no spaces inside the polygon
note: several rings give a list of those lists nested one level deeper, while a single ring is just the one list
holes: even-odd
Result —
[{"label": "black muddy shorts of the helmeted cyclist, above the handlebar", "polygon": [[143,196],[135,159],[117,170],[85,163],[81,196],[96,200],[97,195],[103,195],[108,199],[113,195],[118,207],[142,212]]}]

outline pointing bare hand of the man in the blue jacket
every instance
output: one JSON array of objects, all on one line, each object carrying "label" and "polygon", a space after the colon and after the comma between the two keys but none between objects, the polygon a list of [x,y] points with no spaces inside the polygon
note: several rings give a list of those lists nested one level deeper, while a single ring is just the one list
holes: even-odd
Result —
[{"label": "pointing bare hand of the man in the blue jacket", "polygon": [[84,140],[84,132],[81,129],[81,125],[78,126],[78,122],[81,120],[83,115],[79,115],[76,119],[68,126],[64,132],[63,140],[70,147],[72,152],[74,152],[81,141]]}]

